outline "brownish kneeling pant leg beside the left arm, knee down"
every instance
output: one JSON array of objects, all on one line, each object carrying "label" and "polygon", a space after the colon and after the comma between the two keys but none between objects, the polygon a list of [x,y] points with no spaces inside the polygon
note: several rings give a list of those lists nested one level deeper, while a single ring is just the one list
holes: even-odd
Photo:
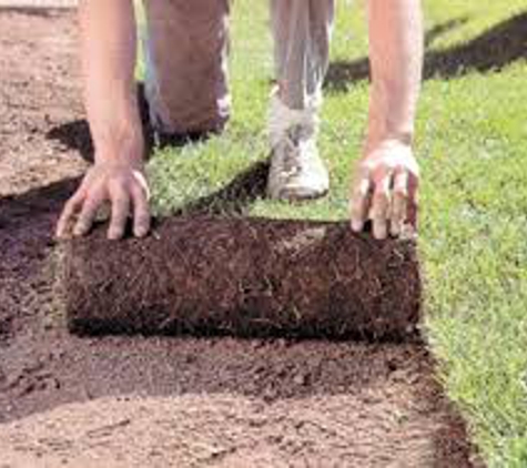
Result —
[{"label": "brownish kneeling pant leg beside the left arm, knee down", "polygon": [[163,133],[216,131],[229,119],[230,0],[144,0],[145,93]]}]

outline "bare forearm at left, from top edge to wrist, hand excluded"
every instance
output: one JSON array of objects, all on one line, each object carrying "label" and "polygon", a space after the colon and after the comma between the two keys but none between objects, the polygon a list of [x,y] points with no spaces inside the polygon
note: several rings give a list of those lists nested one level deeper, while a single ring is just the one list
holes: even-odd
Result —
[{"label": "bare forearm at left, from top edge to wrist, hand excluded", "polygon": [[140,163],[143,135],[134,68],[136,33],[132,0],[81,0],[84,105],[95,162]]}]

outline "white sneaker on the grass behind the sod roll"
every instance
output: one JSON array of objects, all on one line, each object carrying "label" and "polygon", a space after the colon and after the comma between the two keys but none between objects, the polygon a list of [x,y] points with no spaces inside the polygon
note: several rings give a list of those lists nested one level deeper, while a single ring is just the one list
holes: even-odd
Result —
[{"label": "white sneaker on the grass behind the sod roll", "polygon": [[316,147],[318,102],[297,111],[287,108],[277,93],[271,98],[268,136],[272,155],[267,181],[271,199],[311,200],[330,190],[330,175]]}]

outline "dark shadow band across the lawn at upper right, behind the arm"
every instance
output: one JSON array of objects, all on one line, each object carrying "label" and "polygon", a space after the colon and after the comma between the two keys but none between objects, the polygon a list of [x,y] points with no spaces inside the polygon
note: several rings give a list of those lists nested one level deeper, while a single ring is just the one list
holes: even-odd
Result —
[{"label": "dark shadow band across the lawn at upper right, behind the arm", "polygon": [[[466,22],[467,18],[460,18],[433,28],[426,33],[426,47]],[[525,58],[527,58],[527,13],[519,13],[466,43],[446,50],[427,51],[424,78],[449,80],[475,71],[480,73],[499,71]],[[328,91],[342,92],[346,91],[348,85],[368,79],[367,58],[352,62],[336,61],[330,65],[325,88]]]}]

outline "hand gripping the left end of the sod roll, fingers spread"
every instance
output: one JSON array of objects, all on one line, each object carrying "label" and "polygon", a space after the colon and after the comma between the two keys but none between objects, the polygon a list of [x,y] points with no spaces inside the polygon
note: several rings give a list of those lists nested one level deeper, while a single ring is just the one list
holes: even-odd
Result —
[{"label": "hand gripping the left end of the sod roll, fingers spread", "polygon": [[133,213],[133,234],[143,237],[150,231],[149,187],[143,169],[122,162],[99,162],[85,174],[80,187],[67,202],[57,225],[57,236],[85,235],[97,212],[111,205],[108,238],[124,234],[126,220]]}]

